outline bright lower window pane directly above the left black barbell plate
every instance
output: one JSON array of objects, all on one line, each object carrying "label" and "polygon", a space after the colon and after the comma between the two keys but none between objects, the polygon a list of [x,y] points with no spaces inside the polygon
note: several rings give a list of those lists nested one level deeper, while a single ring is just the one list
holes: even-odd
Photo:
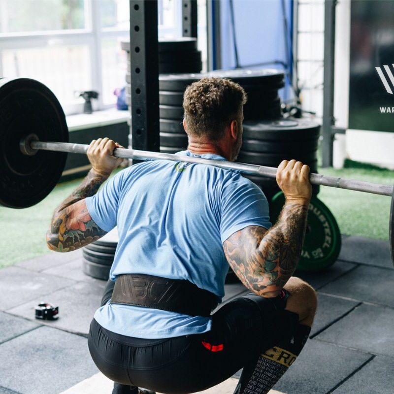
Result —
[{"label": "bright lower window pane directly above the left black barbell plate", "polygon": [[76,92],[92,90],[88,45],[3,50],[1,60],[4,76],[37,79],[63,106],[81,102]]}]

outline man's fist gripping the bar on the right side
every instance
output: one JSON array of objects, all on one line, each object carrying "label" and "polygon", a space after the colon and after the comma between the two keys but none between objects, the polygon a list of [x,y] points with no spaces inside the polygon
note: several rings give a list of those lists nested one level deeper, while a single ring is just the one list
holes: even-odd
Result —
[{"label": "man's fist gripping the bar on the right side", "polygon": [[276,171],[276,182],[287,201],[309,203],[312,196],[312,185],[309,182],[310,168],[307,165],[291,160],[284,160]]}]

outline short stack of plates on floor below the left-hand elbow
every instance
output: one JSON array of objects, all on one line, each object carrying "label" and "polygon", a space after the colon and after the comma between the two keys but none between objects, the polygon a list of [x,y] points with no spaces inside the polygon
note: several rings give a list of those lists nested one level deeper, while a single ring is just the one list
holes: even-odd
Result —
[{"label": "short stack of plates on floor below the left-hand elbow", "polygon": [[108,280],[118,241],[119,235],[115,228],[99,240],[86,245],[82,249],[83,272],[93,278]]}]

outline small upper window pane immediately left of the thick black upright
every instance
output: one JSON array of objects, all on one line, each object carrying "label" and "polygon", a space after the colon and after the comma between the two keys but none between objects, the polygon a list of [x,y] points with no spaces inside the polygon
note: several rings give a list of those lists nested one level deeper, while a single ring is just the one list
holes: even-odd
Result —
[{"label": "small upper window pane immediately left of the thick black upright", "polygon": [[102,28],[130,29],[129,0],[100,0]]}]

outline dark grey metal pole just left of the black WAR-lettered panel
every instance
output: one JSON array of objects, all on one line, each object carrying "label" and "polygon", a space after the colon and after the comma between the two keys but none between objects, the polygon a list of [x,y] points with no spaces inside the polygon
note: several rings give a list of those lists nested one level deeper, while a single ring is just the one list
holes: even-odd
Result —
[{"label": "dark grey metal pole just left of the black WAR-lettered panel", "polygon": [[324,3],[324,77],[323,77],[323,167],[332,165],[332,126],[334,120],[335,65],[335,7],[336,0]]}]

